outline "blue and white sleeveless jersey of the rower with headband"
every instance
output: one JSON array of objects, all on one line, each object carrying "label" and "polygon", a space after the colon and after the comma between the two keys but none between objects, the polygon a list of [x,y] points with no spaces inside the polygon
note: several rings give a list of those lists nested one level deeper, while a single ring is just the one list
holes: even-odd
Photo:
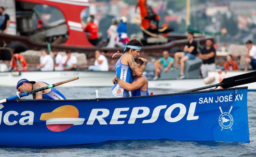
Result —
[{"label": "blue and white sleeveless jersey of the rower with headband", "polygon": [[[116,69],[116,76],[119,77],[121,80],[125,82],[131,83],[132,81],[132,73],[129,65],[124,65],[121,63],[121,58],[117,61],[115,66]],[[129,97],[129,91],[123,89],[119,84],[115,83],[112,87],[112,95],[113,97]]]}]

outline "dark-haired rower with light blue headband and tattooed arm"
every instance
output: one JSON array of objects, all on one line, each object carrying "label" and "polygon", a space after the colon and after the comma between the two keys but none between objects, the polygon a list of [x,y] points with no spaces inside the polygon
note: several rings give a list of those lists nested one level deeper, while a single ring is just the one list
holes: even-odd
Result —
[{"label": "dark-haired rower with light blue headband and tattooed arm", "polygon": [[[142,75],[146,68],[147,60],[139,57],[140,50],[142,49],[142,43],[137,40],[133,39],[126,43],[126,47],[124,48],[124,54],[119,58],[115,65],[116,76],[125,82],[131,83],[132,81],[132,71],[137,76]],[[119,54],[119,52],[117,53]],[[137,63],[135,62],[135,58],[140,58],[144,63],[138,67]],[[123,89],[118,82],[114,84],[112,87],[112,95],[113,97],[129,97],[129,91]]]}]

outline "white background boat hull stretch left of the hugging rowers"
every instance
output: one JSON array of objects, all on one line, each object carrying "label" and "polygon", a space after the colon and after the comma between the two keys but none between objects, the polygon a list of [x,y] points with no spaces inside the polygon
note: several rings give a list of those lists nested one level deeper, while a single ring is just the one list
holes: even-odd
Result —
[{"label": "white background boat hull stretch left of the hugging rowers", "polygon": [[112,79],[115,72],[92,72],[92,71],[23,71],[1,72],[0,86],[16,86],[18,80],[26,78],[31,81],[42,81],[49,84],[60,82],[78,76],[79,79],[64,87],[108,87],[113,86]]}]

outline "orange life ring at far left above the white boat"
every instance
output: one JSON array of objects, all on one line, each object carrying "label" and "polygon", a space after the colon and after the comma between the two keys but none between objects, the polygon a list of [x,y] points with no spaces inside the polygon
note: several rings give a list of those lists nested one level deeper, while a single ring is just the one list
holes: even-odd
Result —
[{"label": "orange life ring at far left above the white boat", "polygon": [[[15,61],[18,65],[16,65]],[[22,64],[22,66],[20,65],[20,63]],[[11,58],[11,65],[15,71],[26,71],[27,70],[27,62],[26,62],[25,58],[18,53],[15,53],[13,55],[13,57]]]}]

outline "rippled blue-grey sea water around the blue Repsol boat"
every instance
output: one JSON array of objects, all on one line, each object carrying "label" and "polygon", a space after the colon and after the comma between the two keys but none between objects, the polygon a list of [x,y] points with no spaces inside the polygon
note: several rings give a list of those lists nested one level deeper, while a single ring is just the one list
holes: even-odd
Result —
[{"label": "rippled blue-grey sea water around the blue Repsol boat", "polygon": [[[112,96],[111,88],[59,87],[58,89],[68,99],[96,98],[96,89],[100,98]],[[15,88],[11,87],[0,87],[0,91],[0,99],[15,94]],[[175,91],[151,89],[150,92],[166,94]],[[248,92],[248,118],[250,143],[126,140],[57,147],[0,146],[0,157],[256,157],[256,92]]]}]

